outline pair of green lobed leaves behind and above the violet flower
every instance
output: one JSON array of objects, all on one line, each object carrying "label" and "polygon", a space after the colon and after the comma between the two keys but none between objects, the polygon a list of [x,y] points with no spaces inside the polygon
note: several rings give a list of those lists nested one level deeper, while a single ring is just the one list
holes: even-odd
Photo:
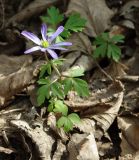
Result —
[{"label": "pair of green lobed leaves behind and above the violet flower", "polygon": [[[54,29],[63,22],[64,15],[60,14],[58,8],[51,7],[47,10],[47,14],[40,17],[42,22],[49,24],[51,27],[49,33],[53,33]],[[64,24],[64,31],[58,36],[57,41],[63,41],[63,38],[69,38],[72,32],[81,32],[86,24],[86,20],[80,17],[80,14],[71,14]]]}]

